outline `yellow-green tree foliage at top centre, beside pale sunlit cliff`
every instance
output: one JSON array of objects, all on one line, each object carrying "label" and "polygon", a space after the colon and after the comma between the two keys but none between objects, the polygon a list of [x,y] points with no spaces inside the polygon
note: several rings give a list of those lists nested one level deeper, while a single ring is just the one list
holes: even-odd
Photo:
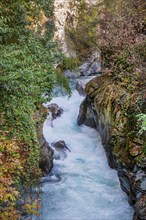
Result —
[{"label": "yellow-green tree foliage at top centre, beside pale sunlit cliff", "polygon": [[[71,8],[75,8],[76,16],[68,16],[66,22],[66,37],[80,60],[84,60],[98,48],[97,28],[99,13],[95,5],[87,4],[85,0],[74,0]],[[75,25],[72,24],[74,20]]]}]

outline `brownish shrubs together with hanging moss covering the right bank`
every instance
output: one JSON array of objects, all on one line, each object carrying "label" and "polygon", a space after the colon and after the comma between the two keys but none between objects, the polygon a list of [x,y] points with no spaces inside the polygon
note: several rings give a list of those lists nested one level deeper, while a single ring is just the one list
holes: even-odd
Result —
[{"label": "brownish shrubs together with hanging moss covering the right bank", "polygon": [[133,165],[144,162],[146,152],[145,2],[102,0],[101,5],[95,7],[103,76],[93,80],[95,85],[89,84],[96,108],[106,109],[111,120],[114,156]]}]

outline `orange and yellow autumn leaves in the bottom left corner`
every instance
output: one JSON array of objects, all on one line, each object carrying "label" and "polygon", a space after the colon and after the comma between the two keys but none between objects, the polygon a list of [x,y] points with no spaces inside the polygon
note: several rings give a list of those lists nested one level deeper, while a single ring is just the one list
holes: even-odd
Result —
[{"label": "orange and yellow autumn leaves in the bottom left corner", "polygon": [[15,138],[9,140],[7,132],[3,132],[0,144],[0,201],[3,206],[1,218],[16,219],[20,217],[16,210],[16,201],[20,193],[15,185],[17,186],[20,182],[19,177],[24,171],[26,157],[20,152],[20,143]]}]

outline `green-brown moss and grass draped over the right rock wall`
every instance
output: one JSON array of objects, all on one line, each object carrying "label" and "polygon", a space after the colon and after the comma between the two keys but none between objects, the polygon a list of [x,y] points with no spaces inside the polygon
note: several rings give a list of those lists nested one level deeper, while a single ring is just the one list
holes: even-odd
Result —
[{"label": "green-brown moss and grass draped over the right rock wall", "polygon": [[106,123],[111,126],[115,158],[121,163],[133,164],[136,161],[136,157],[130,154],[133,141],[142,145],[145,151],[144,136],[138,133],[136,117],[143,109],[143,91],[131,91],[113,77],[104,75],[91,80],[86,86],[86,93],[94,99],[97,111],[105,115]]}]

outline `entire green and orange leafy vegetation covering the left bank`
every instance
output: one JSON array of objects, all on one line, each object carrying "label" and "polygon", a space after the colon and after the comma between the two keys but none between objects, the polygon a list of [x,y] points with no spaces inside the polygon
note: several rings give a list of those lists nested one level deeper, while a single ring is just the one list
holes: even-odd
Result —
[{"label": "entire green and orange leafy vegetation covering the left bank", "polygon": [[[52,41],[52,0],[2,0],[0,15],[0,212],[16,220],[16,201],[41,176],[39,111],[59,80],[54,64],[61,55]],[[23,211],[35,208],[27,198]]]}]

